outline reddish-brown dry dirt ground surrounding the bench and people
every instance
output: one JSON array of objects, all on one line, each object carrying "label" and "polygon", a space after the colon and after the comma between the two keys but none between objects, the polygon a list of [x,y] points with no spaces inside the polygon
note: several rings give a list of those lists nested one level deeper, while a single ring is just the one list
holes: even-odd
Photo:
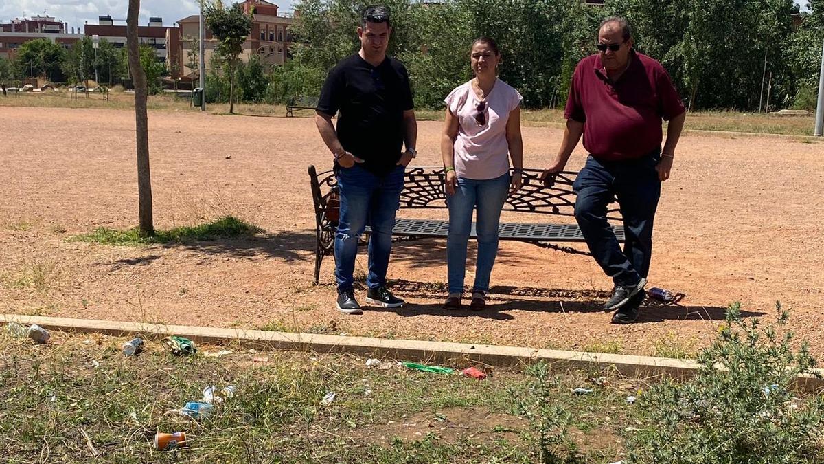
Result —
[{"label": "reddish-brown dry dirt ground surrounding the bench and people", "polygon": [[[416,164],[438,163],[440,125],[420,123]],[[730,302],[771,316],[780,300],[790,328],[824,354],[822,143],[685,135],[663,185],[649,282],[686,298],[615,326],[599,309],[611,282],[591,258],[513,242],[501,243],[485,312],[440,308],[445,243],[430,240],[396,245],[389,277],[408,301],[402,310],[339,315],[330,258],[312,284],[306,168],[327,167],[330,156],[309,118],[150,112],[156,227],[237,215],[265,234],[168,246],[68,241],[137,223],[133,127],[131,111],[0,107],[0,312],[671,354],[712,337]],[[541,168],[561,132],[523,135],[526,167]],[[579,147],[569,167],[583,155]],[[362,255],[357,272],[365,268]]]}]

